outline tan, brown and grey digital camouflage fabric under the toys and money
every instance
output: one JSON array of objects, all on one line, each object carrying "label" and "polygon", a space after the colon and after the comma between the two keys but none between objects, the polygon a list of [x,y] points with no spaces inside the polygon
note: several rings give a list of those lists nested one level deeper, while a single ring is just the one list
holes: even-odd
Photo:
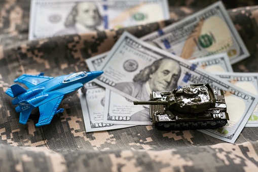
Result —
[{"label": "tan, brown and grey digital camouflage fabric under the toys and money", "polygon": [[[171,6],[172,19],[157,23],[27,41],[29,0],[0,2],[0,171],[257,171],[258,128],[244,128],[235,144],[197,130],[160,131],[153,126],[86,133],[78,94],[63,101],[64,112],[35,127],[5,92],[20,75],[56,77],[87,71],[85,59],[112,48],[124,30],[137,37],[196,11]],[[258,6],[229,10],[251,56],[235,72],[257,72]]]}]

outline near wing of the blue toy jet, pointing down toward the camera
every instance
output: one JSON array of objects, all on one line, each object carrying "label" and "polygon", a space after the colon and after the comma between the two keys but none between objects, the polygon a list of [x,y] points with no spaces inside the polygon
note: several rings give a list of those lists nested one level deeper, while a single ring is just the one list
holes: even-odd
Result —
[{"label": "near wing of the blue toy jet, pointing down toward the camera", "polygon": [[60,97],[52,99],[46,102],[45,104],[39,106],[41,115],[40,115],[39,123],[36,124],[37,127],[49,124],[55,114],[63,112],[64,109],[57,110],[58,106],[60,105],[60,102],[63,99],[63,96],[64,95],[61,95]]}]

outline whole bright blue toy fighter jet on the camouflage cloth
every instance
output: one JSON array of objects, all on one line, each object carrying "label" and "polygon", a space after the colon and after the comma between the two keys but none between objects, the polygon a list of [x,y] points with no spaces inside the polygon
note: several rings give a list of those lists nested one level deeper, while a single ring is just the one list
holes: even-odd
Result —
[{"label": "whole bright blue toy fighter jet on the camouflage cloth", "polygon": [[40,75],[22,75],[14,82],[25,84],[29,89],[14,84],[8,88],[6,93],[11,97],[13,105],[20,112],[21,124],[26,124],[32,109],[39,107],[40,119],[36,126],[47,125],[53,116],[64,109],[57,109],[63,97],[73,91],[83,87],[83,84],[97,78],[103,71],[79,72],[70,75],[59,76],[56,78]]}]

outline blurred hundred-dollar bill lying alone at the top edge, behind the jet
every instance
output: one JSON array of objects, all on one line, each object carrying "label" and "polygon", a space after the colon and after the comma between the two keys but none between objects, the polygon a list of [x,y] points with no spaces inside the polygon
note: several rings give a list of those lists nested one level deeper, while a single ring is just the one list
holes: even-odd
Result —
[{"label": "blurred hundred-dollar bill lying alone at the top edge, behind the jet", "polygon": [[167,0],[32,0],[29,40],[117,29],[168,18]]}]

